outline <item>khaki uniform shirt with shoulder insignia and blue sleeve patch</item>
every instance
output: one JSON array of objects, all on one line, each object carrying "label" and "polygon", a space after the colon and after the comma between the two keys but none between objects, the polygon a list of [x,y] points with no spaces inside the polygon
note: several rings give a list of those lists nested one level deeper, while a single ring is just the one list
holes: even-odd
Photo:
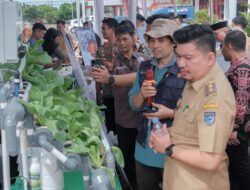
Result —
[{"label": "khaki uniform shirt with shoulder insignia and blue sleeve patch", "polygon": [[186,83],[170,129],[172,143],[224,158],[218,169],[206,171],[167,157],[164,190],[229,190],[225,149],[235,107],[233,90],[218,64],[199,81]]}]

